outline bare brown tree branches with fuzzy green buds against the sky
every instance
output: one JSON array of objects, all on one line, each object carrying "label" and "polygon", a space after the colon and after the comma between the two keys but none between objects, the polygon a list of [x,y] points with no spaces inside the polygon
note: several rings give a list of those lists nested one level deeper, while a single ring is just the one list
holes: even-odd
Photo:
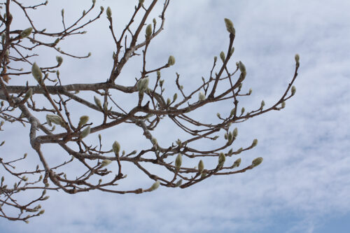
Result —
[{"label": "bare brown tree branches with fuzzy green buds against the sky", "polygon": [[[63,190],[69,194],[90,190],[140,194],[151,192],[159,185],[169,188],[188,188],[211,176],[245,172],[262,162],[262,157],[258,157],[248,167],[239,168],[241,159],[238,158],[233,164],[225,164],[227,157],[235,157],[239,153],[251,150],[258,143],[258,140],[254,139],[252,143],[248,143],[248,146],[233,150],[231,146],[237,137],[238,130],[232,125],[262,113],[284,108],[285,101],[295,94],[293,82],[297,77],[299,55],[295,55],[295,73],[281,98],[277,99],[272,106],[267,107],[262,101],[258,103],[258,108],[246,111],[240,106],[239,99],[250,96],[252,91],[244,92],[242,89],[242,83],[246,78],[244,64],[237,62],[233,69],[229,66],[234,52],[232,45],[235,40],[235,28],[230,20],[225,19],[228,47],[226,52],[220,53],[219,59],[214,57],[209,76],[202,78],[201,85],[193,90],[185,90],[183,85],[186,83],[183,83],[180,75],[176,73],[174,87],[179,94],[174,94],[172,99],[167,98],[163,87],[165,80],[161,77],[161,71],[174,65],[175,58],[169,56],[165,64],[150,68],[146,66],[146,55],[153,39],[163,30],[169,1],[163,0],[159,18],[150,20],[149,15],[158,1],[150,0],[144,3],[139,0],[130,21],[123,30],[118,31],[113,27],[112,10],[107,8],[109,29],[116,45],[113,59],[111,57],[110,76],[104,78],[106,81],[103,83],[71,83],[70,85],[62,85],[62,80],[69,80],[69,77],[59,75],[58,68],[63,62],[61,56],[83,59],[90,54],[78,57],[59,48],[59,44],[70,36],[84,34],[83,29],[98,20],[103,15],[104,8],[94,10],[96,4],[95,0],[92,0],[91,7],[84,10],[83,14],[71,24],[66,24],[64,10],[62,10],[62,31],[50,31],[50,29],[38,28],[36,22],[31,20],[36,9],[45,7],[48,1],[35,6],[28,6],[26,1],[22,3],[20,0],[6,0],[0,3],[2,9],[0,15],[1,130],[8,125],[6,122],[23,125],[22,130],[26,134],[29,133],[31,148],[41,161],[36,168],[27,167],[24,171],[18,171],[15,169],[15,164],[20,160],[28,159],[26,155],[9,161],[5,161],[1,155],[0,163],[3,171],[7,172],[6,176],[12,177],[10,181],[13,181],[13,178],[17,180],[16,183],[10,184],[8,178],[4,176],[1,178],[1,217],[28,222],[29,218],[41,215],[43,210],[38,203],[48,199],[47,190]],[[21,17],[24,15],[31,27],[27,29],[13,27],[11,24],[13,18],[19,17],[11,14],[11,9],[14,7],[22,10]],[[36,64],[37,57],[43,55],[45,50],[57,52],[57,64],[45,66]],[[123,67],[130,58],[137,55],[143,58],[143,64],[139,77],[134,80],[134,85],[118,85]],[[28,83],[10,85],[11,78],[19,77],[23,77],[23,80],[28,77],[33,80],[35,78],[37,85],[28,85]],[[167,80],[169,82],[169,78]],[[223,85],[225,90],[218,89],[220,83],[225,83]],[[86,92],[92,94],[94,101],[92,96],[87,98],[87,95],[84,95]],[[120,93],[130,94],[130,99],[134,100],[134,106],[123,106],[123,103],[118,103]],[[229,108],[232,111],[225,115],[217,113],[219,123],[201,122],[190,115],[207,104],[221,101],[230,101],[232,105]],[[89,116],[80,115],[80,111],[75,111],[72,107],[76,104],[87,108],[86,112],[99,113],[100,120],[91,122]],[[80,118],[78,122],[74,120],[77,118]],[[165,118],[174,122],[174,126],[181,131],[186,132],[188,135],[186,139],[178,139],[169,145],[158,143],[153,132]],[[126,124],[139,127],[143,132],[143,135],[139,135],[140,140],[141,138],[147,140],[149,146],[139,151],[121,150],[118,141],[113,145],[104,146],[102,137],[104,130]],[[216,140],[219,135],[223,135],[224,138],[216,142],[216,145],[220,144],[220,146],[215,146],[211,150],[202,150],[195,146],[197,141]],[[96,140],[90,145],[85,142],[87,138]],[[71,155],[71,159],[62,164],[50,164],[48,162],[50,155],[45,155],[42,151],[42,147],[47,144],[63,148],[68,155]],[[13,156],[10,155],[10,157]],[[184,166],[183,157],[186,157],[186,160],[195,160],[197,167]],[[206,159],[210,157],[217,157],[217,164],[204,166]],[[74,163],[80,164],[85,171],[80,173],[80,170],[77,170],[74,173],[75,170],[69,170],[67,174],[66,167]],[[118,164],[116,171],[109,169],[111,163]],[[141,170],[151,178],[153,185],[145,184],[146,188],[119,190],[116,185],[127,180],[122,169],[127,163],[134,165],[135,169]],[[156,173],[159,170],[149,169],[148,164],[162,167],[166,172]],[[103,177],[105,177],[104,181]],[[16,197],[28,190],[39,190],[41,195],[26,203],[18,202]]]}]

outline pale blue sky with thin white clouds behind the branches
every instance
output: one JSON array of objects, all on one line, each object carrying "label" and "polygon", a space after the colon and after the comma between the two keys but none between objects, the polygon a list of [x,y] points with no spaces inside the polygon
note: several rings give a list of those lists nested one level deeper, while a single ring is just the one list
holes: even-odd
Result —
[{"label": "pale blue sky with thin white clouds behind the branches", "polygon": [[[97,0],[97,6],[111,7],[117,30],[127,23],[136,3]],[[69,20],[88,6],[90,1],[49,1],[46,10],[33,13],[34,22],[41,21],[43,28],[59,27],[62,8]],[[161,7],[159,1],[148,23]],[[225,17],[236,29],[229,66],[235,69],[235,62],[244,62],[247,76],[242,88],[253,90],[241,100],[246,109],[260,106],[262,99],[270,106],[281,97],[293,78],[294,55],[300,54],[297,92],[286,108],[237,125],[237,148],[259,140],[253,150],[240,155],[242,166],[255,157],[263,157],[262,164],[244,174],[210,178],[184,190],[160,187],[142,195],[50,192],[50,199],[41,204],[43,216],[29,224],[0,219],[0,232],[349,232],[349,8],[350,1],[345,0],[171,1],[165,30],[153,40],[148,57],[150,66],[167,62],[169,55],[176,57],[176,64],[162,73],[169,97],[174,94],[176,72],[184,90],[200,83],[202,76],[208,78],[213,57],[227,50]],[[60,69],[64,84],[102,82],[109,76],[113,41],[105,15],[87,31],[62,43],[62,49],[79,55],[92,52],[85,60],[64,57]],[[37,58],[41,64],[48,61],[54,62],[55,54]],[[131,60],[118,82],[134,82],[139,70],[139,59]],[[126,97],[120,98],[127,105]],[[231,108],[218,104],[214,111],[205,110],[204,120],[216,119],[217,112]],[[132,148],[140,132],[127,127],[108,131],[104,137]],[[6,137],[1,154],[28,152],[35,163],[29,128],[8,125],[5,129],[0,132],[1,138]],[[156,134],[173,140],[172,130],[174,125],[165,124]],[[120,132],[126,133],[121,136]],[[52,154],[52,162],[62,153],[44,150]],[[131,172],[125,187],[153,183],[138,171]]]}]

